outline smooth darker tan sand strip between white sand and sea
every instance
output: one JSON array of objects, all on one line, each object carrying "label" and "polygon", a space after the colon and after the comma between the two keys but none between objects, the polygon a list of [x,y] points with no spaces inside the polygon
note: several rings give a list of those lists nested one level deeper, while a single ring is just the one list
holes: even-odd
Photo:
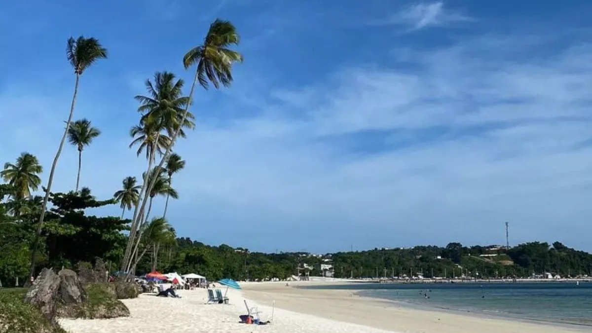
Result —
[{"label": "smooth darker tan sand strip between white sand and sea", "polygon": [[[423,333],[567,333],[589,332],[590,326],[463,313],[453,309],[411,306],[404,302],[360,296],[363,290],[307,289],[308,286],[355,284],[343,281],[297,281],[243,284],[246,299],[259,304],[275,300],[276,309],[349,322],[391,332]],[[301,288],[304,287],[304,288]]]}]

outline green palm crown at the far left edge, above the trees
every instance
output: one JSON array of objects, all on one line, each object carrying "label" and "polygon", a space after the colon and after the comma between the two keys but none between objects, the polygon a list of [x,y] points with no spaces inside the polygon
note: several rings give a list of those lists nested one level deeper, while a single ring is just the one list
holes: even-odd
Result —
[{"label": "green palm crown at the far left edge, above the trees", "polygon": [[43,167],[34,155],[24,152],[18,156],[15,164],[7,163],[0,176],[12,187],[11,196],[22,200],[31,196],[31,191],[37,190],[41,185],[38,174],[43,172]]}]

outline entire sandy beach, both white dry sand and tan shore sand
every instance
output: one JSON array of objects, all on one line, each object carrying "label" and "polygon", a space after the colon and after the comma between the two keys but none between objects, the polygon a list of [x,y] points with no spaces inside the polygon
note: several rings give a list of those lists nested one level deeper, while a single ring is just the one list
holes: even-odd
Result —
[{"label": "entire sandy beach, both white dry sand and tan shore sand", "polygon": [[[351,290],[305,289],[318,282],[243,283],[243,290],[229,290],[230,305],[206,305],[201,290],[180,290],[181,299],[142,294],[123,300],[128,318],[83,320],[61,319],[70,333],[145,332],[368,332],[368,333],[568,333],[590,332],[589,327],[514,321],[407,308],[353,295]],[[263,321],[272,324],[246,325],[239,315],[257,306]]]}]

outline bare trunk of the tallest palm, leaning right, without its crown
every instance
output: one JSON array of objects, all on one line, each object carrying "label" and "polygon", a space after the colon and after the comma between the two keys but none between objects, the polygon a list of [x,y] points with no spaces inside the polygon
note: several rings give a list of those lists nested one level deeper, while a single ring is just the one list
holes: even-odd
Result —
[{"label": "bare trunk of the tallest palm, leaning right, without its crown", "polygon": [[[170,155],[170,151],[172,150],[173,145],[175,145],[175,141],[177,139],[177,136],[179,136],[179,132],[181,132],[182,124],[185,123],[185,119],[186,119],[187,113],[189,111],[189,105],[191,105],[191,99],[192,99],[193,93],[195,91],[195,84],[197,83],[198,74],[199,74],[199,71],[196,69],[195,78],[193,79],[193,84],[191,85],[191,90],[189,91],[188,101],[187,101],[187,104],[185,105],[185,110],[183,111],[183,117],[181,118],[181,121],[179,121],[179,126],[175,129],[175,133],[173,133],[173,136],[170,137],[170,143],[166,147],[165,154],[160,159],[160,163],[158,164],[158,166],[156,167],[156,169],[154,171],[154,172],[156,172],[156,174],[158,174],[160,172],[160,170],[162,169],[162,166],[165,164],[165,161],[168,158],[168,156]],[[152,188],[154,187],[154,184],[156,183],[157,177],[152,177],[152,178],[153,179],[150,180],[150,184],[148,184],[147,187],[145,186],[146,181],[144,181],[144,184],[142,185],[142,189],[140,191],[141,205],[138,205],[140,208],[136,207],[136,210],[134,210],[133,222],[135,222],[136,228],[137,228],[137,223],[139,222],[139,216],[137,214],[137,211],[144,210],[144,207],[146,207],[146,201],[148,201],[148,198],[150,197],[150,192],[152,191]],[[134,223],[132,223],[132,228],[133,228],[133,226],[134,226]],[[136,232],[134,230],[132,230],[132,232],[130,232],[130,238],[128,239],[128,244],[127,244],[128,248],[130,248],[129,252],[131,252],[131,247],[134,244],[134,236],[135,235],[136,235]],[[126,253],[127,252],[128,251],[126,249]],[[130,266],[130,262],[131,262],[131,257],[129,255],[124,256],[124,262],[122,265],[123,270],[125,270],[126,267]],[[127,270],[125,270],[125,271],[127,271]]]}]

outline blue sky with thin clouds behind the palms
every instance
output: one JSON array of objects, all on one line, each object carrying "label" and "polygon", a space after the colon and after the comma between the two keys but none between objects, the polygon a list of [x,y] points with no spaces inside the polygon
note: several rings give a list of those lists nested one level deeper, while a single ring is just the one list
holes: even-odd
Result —
[{"label": "blue sky with thin clouds behind the palms", "polygon": [[[179,235],[324,252],[497,244],[509,220],[513,244],[590,251],[592,3],[565,3],[0,4],[0,157],[34,153],[46,181],[73,90],[66,39],[96,37],[109,59],[82,76],[75,118],[102,135],[81,183],[111,196],[146,167],[128,149],[133,96],[156,71],[191,80],[182,56],[220,17],[245,61],[230,89],[197,92],[197,129],[175,146]],[[74,187],[76,153],[54,190]]]}]

